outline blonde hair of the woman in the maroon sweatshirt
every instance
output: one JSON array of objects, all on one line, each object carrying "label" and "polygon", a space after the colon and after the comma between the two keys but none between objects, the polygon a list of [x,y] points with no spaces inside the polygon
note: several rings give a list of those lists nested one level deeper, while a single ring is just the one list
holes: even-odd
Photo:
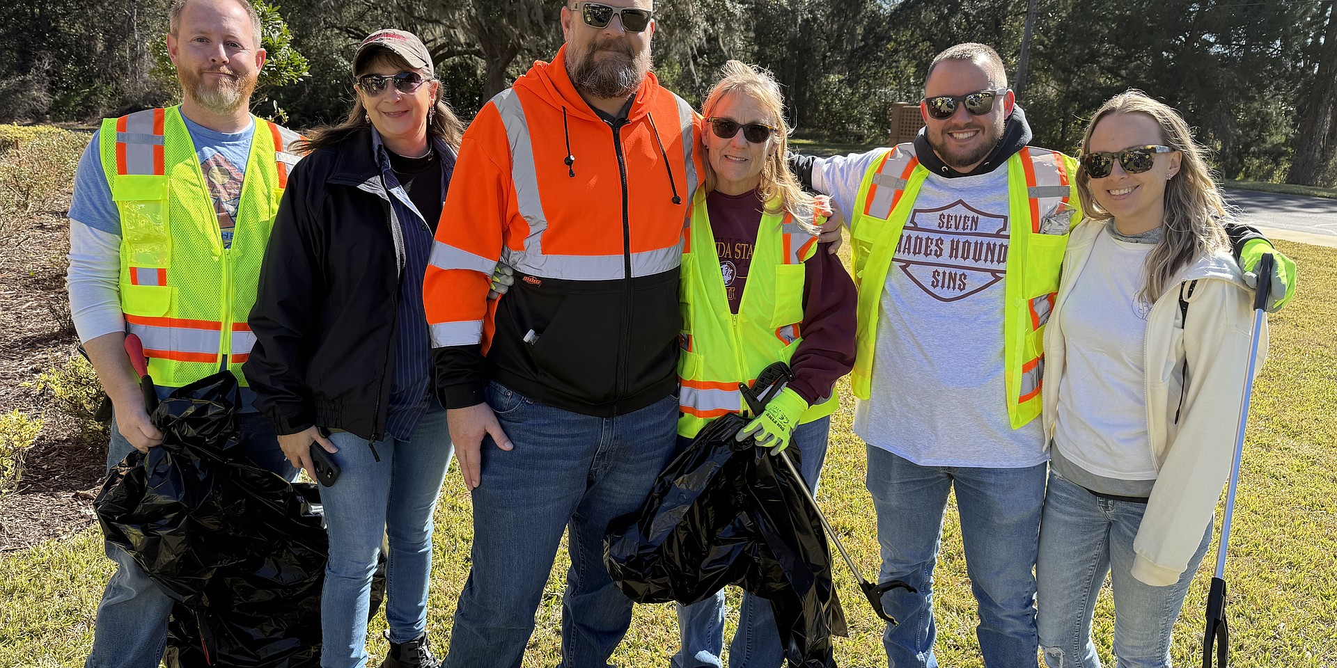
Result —
[{"label": "blonde hair of the woman in the maroon sweatshirt", "polygon": [[[725,67],[719,68],[719,81],[706,94],[702,112],[709,118],[719,100],[731,92],[747,95],[761,104],[762,110],[774,120],[771,124],[775,126],[775,150],[767,154],[762,163],[757,198],[765,203],[769,214],[786,211],[794,216],[796,222],[812,224],[813,196],[798,186],[798,179],[789,171],[789,163],[785,159],[790,130],[789,124],[785,123],[785,95],[779,92],[779,83],[766,69],[738,60],[725,63]],[[710,130],[706,128],[706,132]],[[706,170],[706,190],[715,190],[715,174],[709,168]],[[770,202],[775,199],[779,200],[778,207],[770,208]]]}]

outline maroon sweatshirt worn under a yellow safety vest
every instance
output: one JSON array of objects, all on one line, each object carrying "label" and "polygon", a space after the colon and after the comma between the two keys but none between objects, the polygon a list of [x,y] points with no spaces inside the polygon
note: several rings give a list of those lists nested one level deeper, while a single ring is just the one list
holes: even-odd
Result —
[{"label": "maroon sweatshirt worn under a yellow safety vest", "polygon": [[[761,226],[762,202],[757,192],[706,195],[710,228],[715,234],[715,253],[725,279],[729,309],[738,313],[751,267],[757,228]],[[789,366],[794,370],[794,389],[809,405],[832,395],[836,381],[854,367],[854,314],[858,294],[840,258],[817,248],[808,258],[804,279],[804,322]]]}]

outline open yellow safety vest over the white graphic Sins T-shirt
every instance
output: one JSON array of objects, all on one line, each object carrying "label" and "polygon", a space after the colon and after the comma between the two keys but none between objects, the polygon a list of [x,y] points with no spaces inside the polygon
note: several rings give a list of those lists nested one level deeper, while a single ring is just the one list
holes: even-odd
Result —
[{"label": "open yellow safety vest over the white graphic Sins T-shirt", "polygon": [[[1059,290],[1071,226],[1082,219],[1078,163],[1058,151],[1025,147],[1007,162],[1009,228],[1004,281],[1003,359],[1012,429],[1040,415],[1044,323]],[[854,395],[872,391],[877,317],[892,257],[929,171],[910,143],[892,148],[864,174],[850,215],[858,330]],[[1046,232],[1042,234],[1042,228]]]}]

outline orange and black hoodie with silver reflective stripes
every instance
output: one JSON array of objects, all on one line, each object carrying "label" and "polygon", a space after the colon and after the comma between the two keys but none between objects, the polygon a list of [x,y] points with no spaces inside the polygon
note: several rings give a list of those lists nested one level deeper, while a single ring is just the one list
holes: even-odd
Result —
[{"label": "orange and black hoodie with silver reflective stripes", "polygon": [[[673,394],[682,230],[701,186],[691,107],[647,75],[614,120],[536,61],[473,119],[424,279],[439,398],[496,381],[611,417]],[[493,266],[515,285],[488,301]]]}]

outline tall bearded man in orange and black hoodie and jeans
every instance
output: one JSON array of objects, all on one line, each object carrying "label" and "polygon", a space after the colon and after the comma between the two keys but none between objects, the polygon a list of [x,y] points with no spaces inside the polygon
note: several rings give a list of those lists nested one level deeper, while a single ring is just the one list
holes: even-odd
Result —
[{"label": "tall bearded man in orange and black hoodie and jeans", "polygon": [[[650,73],[650,0],[572,1],[566,44],[469,126],[424,282],[436,391],[472,490],[448,667],[519,667],[570,528],[563,667],[603,667],[631,601],[610,520],[674,452],[697,116]],[[497,261],[511,290],[488,301]]]}]

